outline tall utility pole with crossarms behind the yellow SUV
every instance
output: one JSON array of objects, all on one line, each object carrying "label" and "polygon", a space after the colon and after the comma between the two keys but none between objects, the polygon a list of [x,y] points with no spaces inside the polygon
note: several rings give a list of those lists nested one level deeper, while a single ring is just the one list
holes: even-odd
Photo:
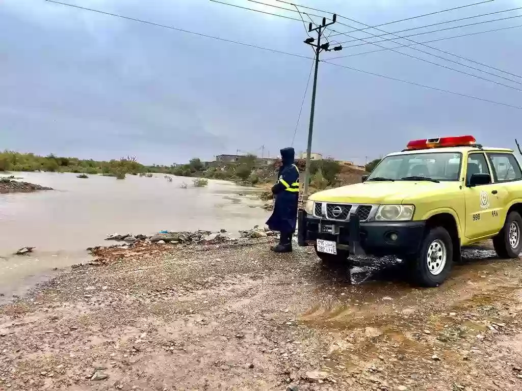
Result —
[{"label": "tall utility pole with crossarms behind the yellow SUV", "polygon": [[[312,23],[310,23],[308,27],[308,31],[316,31],[317,32],[317,44],[314,44],[314,38],[307,38],[304,43],[307,45],[315,47],[315,69],[314,69],[314,84],[312,88],[312,105],[310,107],[310,126],[308,129],[308,146],[306,148],[306,169],[304,172],[304,194],[303,200],[306,201],[308,198],[308,183],[310,182],[310,155],[312,154],[312,134],[314,130],[314,113],[315,113],[315,92],[317,90],[317,71],[319,69],[319,54],[324,50],[326,52],[331,51],[330,44],[328,42],[321,44],[321,35],[324,32],[324,29],[328,26],[333,25],[337,20],[337,15],[334,14],[332,17],[332,21],[330,23],[326,23],[326,18],[323,18],[323,22],[321,25],[316,28],[312,28]],[[334,51],[342,50],[342,46],[335,46],[333,48]]]}]

